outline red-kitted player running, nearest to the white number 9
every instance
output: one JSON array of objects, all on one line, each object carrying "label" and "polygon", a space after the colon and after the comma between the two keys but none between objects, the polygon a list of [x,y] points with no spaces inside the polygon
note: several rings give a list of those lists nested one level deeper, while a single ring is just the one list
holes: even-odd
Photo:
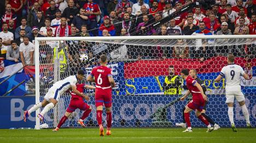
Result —
[{"label": "red-kitted player running, nearest to the white number 9", "polygon": [[181,71],[181,76],[186,80],[188,88],[187,93],[181,98],[181,101],[183,101],[190,93],[192,94],[192,100],[186,105],[184,110],[184,118],[188,128],[183,132],[192,132],[189,113],[193,110],[196,110],[196,116],[208,127],[207,132],[212,132],[214,128],[210,125],[207,119],[201,115],[203,105],[205,105],[205,101],[207,100],[207,96],[203,93],[201,85],[197,83],[194,78],[189,76],[188,69],[183,69]]}]

